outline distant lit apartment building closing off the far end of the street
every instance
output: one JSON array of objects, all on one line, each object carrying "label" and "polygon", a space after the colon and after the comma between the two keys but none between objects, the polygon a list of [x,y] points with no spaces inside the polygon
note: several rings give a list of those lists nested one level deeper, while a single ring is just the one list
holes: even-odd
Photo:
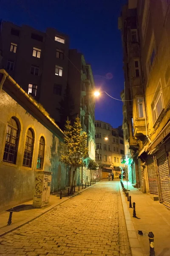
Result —
[{"label": "distant lit apartment building closing off the far end of the street", "polygon": [[109,123],[100,120],[95,121],[96,127],[96,163],[99,164],[99,175],[102,178],[108,177],[108,173],[119,173],[124,168],[124,142],[119,131]]}]

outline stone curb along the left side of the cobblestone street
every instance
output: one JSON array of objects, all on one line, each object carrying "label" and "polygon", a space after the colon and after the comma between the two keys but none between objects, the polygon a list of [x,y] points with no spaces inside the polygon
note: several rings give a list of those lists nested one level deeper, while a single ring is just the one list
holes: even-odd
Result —
[{"label": "stone curb along the left side of the cobblestone street", "polygon": [[41,215],[43,215],[43,214],[49,212],[51,209],[57,207],[58,205],[64,203],[65,201],[67,201],[67,200],[73,198],[74,196],[79,195],[80,193],[86,191],[87,189],[92,188],[94,185],[95,185],[95,184],[93,184],[93,185],[91,185],[91,186],[88,186],[88,187],[86,187],[86,189],[83,189],[83,190],[81,190],[81,191],[78,191],[78,192],[75,193],[74,195],[70,195],[68,198],[65,198],[65,200],[63,200],[63,201],[60,202],[59,204],[53,204],[53,205],[51,205],[51,206],[49,206],[49,207],[47,207],[47,208],[45,208],[45,209],[42,209],[42,212],[37,213],[37,216],[29,217],[29,218],[25,219],[24,221],[20,221],[20,222],[18,222],[17,224],[12,224],[11,226],[2,227],[2,228],[0,229],[0,237],[6,235],[7,233],[9,233],[9,232],[11,232],[11,231],[13,231],[13,230],[18,229],[19,227],[24,226],[25,224],[28,224],[28,223],[31,222],[31,221],[34,221],[36,218],[38,218],[38,217],[40,217]]}]

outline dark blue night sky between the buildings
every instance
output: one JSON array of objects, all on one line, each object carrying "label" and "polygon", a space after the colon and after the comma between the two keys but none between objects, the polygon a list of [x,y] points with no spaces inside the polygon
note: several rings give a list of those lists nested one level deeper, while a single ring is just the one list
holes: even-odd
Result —
[{"label": "dark blue night sky between the buildings", "polygon": [[124,87],[118,17],[126,0],[48,2],[0,0],[0,18],[42,31],[46,27],[54,27],[68,34],[70,48],[77,48],[84,54],[86,62],[92,66],[96,87],[102,91],[96,101],[96,120],[111,123],[115,128],[122,125],[122,102],[111,99],[104,91],[120,99]]}]

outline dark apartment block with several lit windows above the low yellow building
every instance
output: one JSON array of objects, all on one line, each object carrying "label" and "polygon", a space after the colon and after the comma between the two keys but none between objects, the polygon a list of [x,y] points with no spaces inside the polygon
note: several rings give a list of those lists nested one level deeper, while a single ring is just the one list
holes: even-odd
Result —
[{"label": "dark apartment block with several lit windows above the low yellow building", "polygon": [[59,122],[68,76],[68,36],[52,28],[41,32],[6,21],[0,28],[1,68]]}]

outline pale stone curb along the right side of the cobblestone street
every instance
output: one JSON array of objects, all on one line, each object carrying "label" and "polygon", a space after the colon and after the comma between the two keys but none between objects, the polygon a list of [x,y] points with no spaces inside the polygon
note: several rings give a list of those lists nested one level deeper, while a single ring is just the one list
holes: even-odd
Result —
[{"label": "pale stone curb along the right side of the cobblestone street", "polygon": [[122,199],[122,206],[123,206],[123,212],[124,212],[124,216],[125,216],[126,230],[127,230],[127,236],[129,239],[131,254],[132,254],[132,256],[144,256],[144,254],[142,252],[142,247],[139,243],[139,239],[136,236],[135,227],[133,225],[133,221],[130,216],[129,208],[127,207],[125,196],[123,195],[120,183],[119,183],[119,191],[120,191],[120,195],[121,195],[121,199]]}]

